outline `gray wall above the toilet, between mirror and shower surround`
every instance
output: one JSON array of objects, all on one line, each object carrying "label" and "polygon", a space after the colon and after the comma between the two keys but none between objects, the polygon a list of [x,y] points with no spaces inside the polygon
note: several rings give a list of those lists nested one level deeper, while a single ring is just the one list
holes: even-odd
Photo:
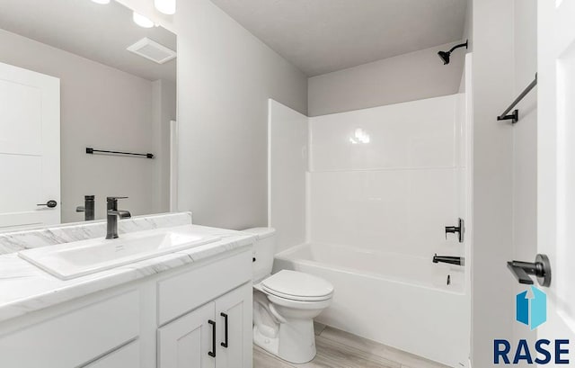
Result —
[{"label": "gray wall above the toilet, between mirror and shower surround", "polygon": [[307,78],[209,0],[162,16],[178,35],[179,210],[228,229],[267,224],[268,98],[307,112]]}]

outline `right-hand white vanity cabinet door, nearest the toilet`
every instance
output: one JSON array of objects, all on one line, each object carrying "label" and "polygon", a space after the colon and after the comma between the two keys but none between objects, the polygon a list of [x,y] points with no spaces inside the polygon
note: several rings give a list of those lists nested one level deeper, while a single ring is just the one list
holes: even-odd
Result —
[{"label": "right-hand white vanity cabinet door, nearest the toilet", "polygon": [[252,283],[216,300],[217,368],[252,368],[252,310]]}]

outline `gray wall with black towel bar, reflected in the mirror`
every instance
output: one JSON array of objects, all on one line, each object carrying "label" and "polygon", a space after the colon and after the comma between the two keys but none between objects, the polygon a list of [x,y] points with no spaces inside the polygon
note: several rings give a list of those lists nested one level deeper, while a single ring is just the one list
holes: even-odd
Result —
[{"label": "gray wall with black towel bar, reflected in the mirror", "polygon": [[151,82],[7,31],[0,44],[0,62],[60,78],[62,220],[84,220],[84,194],[96,195],[98,218],[108,195],[128,195],[121,207],[132,214],[154,212],[158,160],[85,154],[153,149]]}]

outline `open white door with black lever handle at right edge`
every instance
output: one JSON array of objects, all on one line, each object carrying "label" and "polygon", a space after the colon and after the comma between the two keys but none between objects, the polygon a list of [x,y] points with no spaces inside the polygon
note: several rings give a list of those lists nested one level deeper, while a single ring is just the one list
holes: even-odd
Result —
[{"label": "open white door with black lever handle at right edge", "polygon": [[575,341],[575,1],[537,4],[537,251],[552,270],[537,338]]}]

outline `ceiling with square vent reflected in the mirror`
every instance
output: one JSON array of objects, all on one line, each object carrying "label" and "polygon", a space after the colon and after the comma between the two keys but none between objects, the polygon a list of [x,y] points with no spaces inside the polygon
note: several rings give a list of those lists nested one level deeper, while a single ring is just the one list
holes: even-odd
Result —
[{"label": "ceiling with square vent reflected in the mirror", "polygon": [[0,29],[154,81],[175,82],[175,59],[163,65],[126,48],[147,37],[176,50],[176,36],[162,27],[145,29],[116,2],[90,0],[0,0]]}]

